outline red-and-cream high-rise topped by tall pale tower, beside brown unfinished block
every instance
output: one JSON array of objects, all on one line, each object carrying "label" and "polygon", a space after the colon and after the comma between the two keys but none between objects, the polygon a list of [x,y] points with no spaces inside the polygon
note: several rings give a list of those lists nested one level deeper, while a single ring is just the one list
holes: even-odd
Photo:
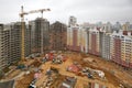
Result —
[{"label": "red-and-cream high-rise topped by tall pale tower, beside brown unfinished block", "polygon": [[69,23],[67,28],[67,48],[70,51],[80,51],[80,31],[77,25],[77,19],[69,16]]}]

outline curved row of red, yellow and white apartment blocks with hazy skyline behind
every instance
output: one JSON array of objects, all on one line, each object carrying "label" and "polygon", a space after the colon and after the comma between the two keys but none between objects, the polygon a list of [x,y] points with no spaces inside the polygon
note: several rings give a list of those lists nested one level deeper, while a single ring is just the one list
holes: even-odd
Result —
[{"label": "curved row of red, yellow and white apartment blocks with hazy skyline behind", "polygon": [[69,25],[68,50],[101,56],[123,67],[132,68],[132,30],[129,22],[123,25],[120,22],[113,25],[110,22]]}]

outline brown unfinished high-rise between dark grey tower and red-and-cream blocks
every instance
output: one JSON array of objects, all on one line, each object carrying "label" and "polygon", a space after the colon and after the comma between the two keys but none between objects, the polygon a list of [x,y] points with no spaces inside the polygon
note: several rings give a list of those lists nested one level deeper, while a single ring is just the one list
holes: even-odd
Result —
[{"label": "brown unfinished high-rise between dark grey tower and red-and-cream blocks", "polygon": [[50,48],[54,51],[66,50],[67,26],[58,21],[51,24],[50,29]]}]

